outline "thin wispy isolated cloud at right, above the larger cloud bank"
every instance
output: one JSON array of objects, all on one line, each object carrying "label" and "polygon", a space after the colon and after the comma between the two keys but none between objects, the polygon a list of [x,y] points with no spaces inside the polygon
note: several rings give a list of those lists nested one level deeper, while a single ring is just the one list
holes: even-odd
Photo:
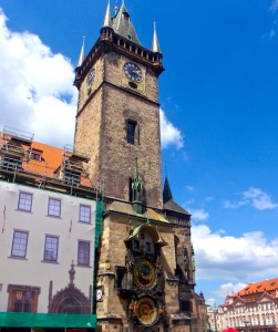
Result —
[{"label": "thin wispy isolated cloud at right, above the larger cloud bank", "polygon": [[224,201],[224,208],[237,209],[241,206],[249,205],[257,210],[274,209],[278,204],[274,203],[271,196],[262,189],[250,187],[248,190],[241,193],[241,198],[231,203],[230,200]]}]

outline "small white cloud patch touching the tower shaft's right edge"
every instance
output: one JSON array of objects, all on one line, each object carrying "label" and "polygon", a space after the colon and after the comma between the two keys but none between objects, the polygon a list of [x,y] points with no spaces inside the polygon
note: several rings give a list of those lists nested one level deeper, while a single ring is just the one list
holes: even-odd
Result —
[{"label": "small white cloud patch touching the tower shaft's right edge", "polygon": [[161,135],[163,148],[172,145],[179,149],[184,146],[182,132],[167,120],[163,110],[161,110]]}]

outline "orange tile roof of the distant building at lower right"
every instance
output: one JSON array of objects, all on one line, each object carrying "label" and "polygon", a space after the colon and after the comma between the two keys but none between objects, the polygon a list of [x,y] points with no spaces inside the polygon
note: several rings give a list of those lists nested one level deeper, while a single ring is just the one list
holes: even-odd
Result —
[{"label": "orange tile roof of the distant building at lower right", "polygon": [[256,293],[274,293],[278,289],[278,278],[275,279],[267,279],[254,283],[248,283],[245,288],[243,288],[239,292],[233,294],[233,297],[250,297],[255,295]]}]

